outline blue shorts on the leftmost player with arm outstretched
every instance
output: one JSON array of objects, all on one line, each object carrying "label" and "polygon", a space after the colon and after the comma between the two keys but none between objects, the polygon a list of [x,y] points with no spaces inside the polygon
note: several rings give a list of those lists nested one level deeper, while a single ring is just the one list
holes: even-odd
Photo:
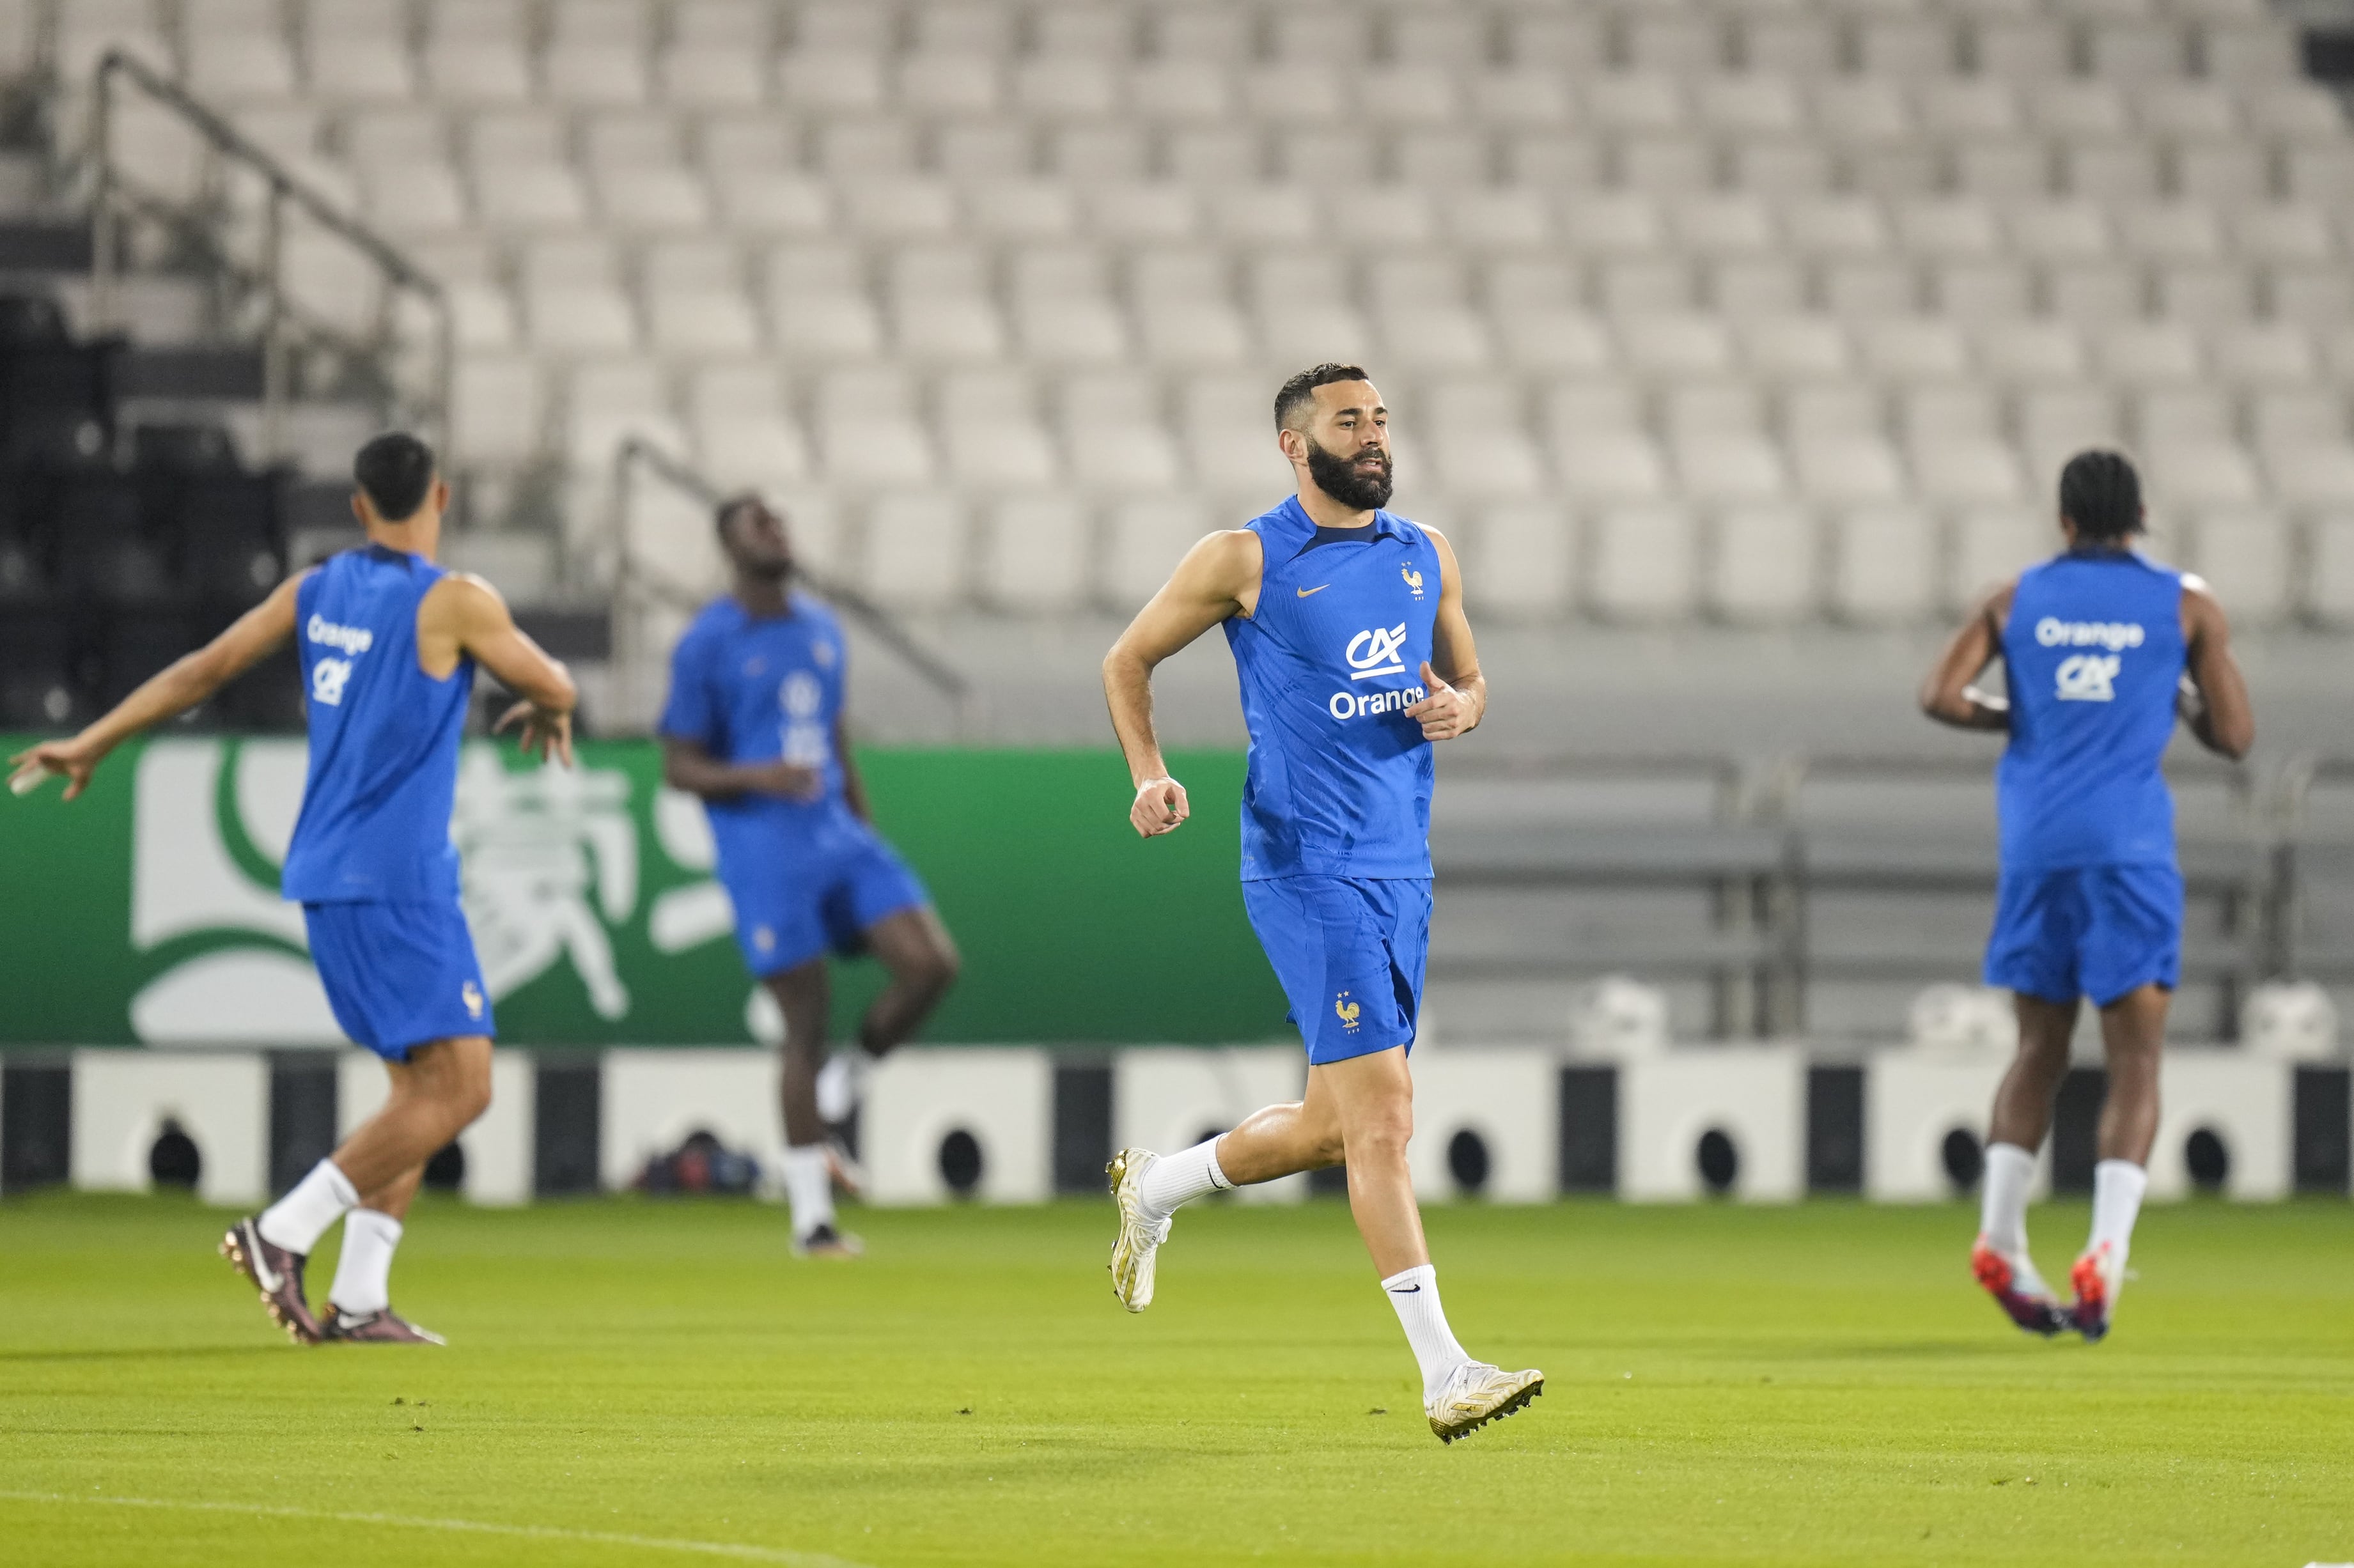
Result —
[{"label": "blue shorts on the leftmost player with arm outstretched", "polygon": [[304,904],[301,918],[334,1022],[386,1062],[407,1062],[431,1041],[499,1031],[457,899]]}]

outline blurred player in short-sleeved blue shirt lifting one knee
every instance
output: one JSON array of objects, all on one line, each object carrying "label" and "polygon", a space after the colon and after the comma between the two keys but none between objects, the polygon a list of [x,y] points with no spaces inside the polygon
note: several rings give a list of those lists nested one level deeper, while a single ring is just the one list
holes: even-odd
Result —
[{"label": "blurred player in short-sleeved blue shirt lifting one knee", "polygon": [[[744,963],[784,1012],[793,1250],[847,1257],[859,1241],[833,1224],[833,1177],[852,1172],[826,1123],[857,1109],[866,1067],[939,1005],[956,979],[956,944],[923,883],[871,826],[843,739],[843,629],[822,603],[786,589],[784,520],[756,497],[734,497],[716,523],[734,591],[694,617],[671,655],[661,777],[701,796]],[[857,1050],[833,1064],[829,946],[871,951],[890,972]]]}]

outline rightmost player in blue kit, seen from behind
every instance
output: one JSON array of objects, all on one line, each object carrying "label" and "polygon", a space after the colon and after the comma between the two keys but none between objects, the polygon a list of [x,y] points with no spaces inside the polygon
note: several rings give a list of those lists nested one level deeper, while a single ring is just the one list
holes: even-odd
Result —
[{"label": "rightmost player in blue kit, seen from behind", "polygon": [[[2182,963],[2175,803],[2159,772],[2175,713],[2208,751],[2255,739],[2222,607],[2133,549],[2142,483],[2116,452],[2060,473],[2067,551],[2020,572],[1954,633],[1921,690],[1930,718],[2008,735],[1994,775],[2001,888],[1987,984],[2017,996],[2020,1055],[1994,1095],[1970,1269],[2020,1328],[2109,1333],[2159,1132],[2159,1048]],[[2003,662],[2006,697],[1973,680]],[[2187,673],[2185,673],[2187,671]],[[2027,1189],[2067,1074],[2079,998],[2100,1008],[2109,1097],[2076,1302],[2027,1257]]]}]

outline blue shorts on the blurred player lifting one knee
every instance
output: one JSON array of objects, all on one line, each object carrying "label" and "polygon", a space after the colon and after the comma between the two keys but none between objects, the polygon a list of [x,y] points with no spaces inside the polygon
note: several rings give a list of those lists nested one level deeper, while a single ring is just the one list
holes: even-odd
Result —
[{"label": "blue shorts on the blurred player lifting one knee", "polygon": [[756,866],[720,866],[737,911],[737,946],[760,979],[800,968],[826,949],[852,958],[866,930],[930,902],[899,852],[869,826]]}]

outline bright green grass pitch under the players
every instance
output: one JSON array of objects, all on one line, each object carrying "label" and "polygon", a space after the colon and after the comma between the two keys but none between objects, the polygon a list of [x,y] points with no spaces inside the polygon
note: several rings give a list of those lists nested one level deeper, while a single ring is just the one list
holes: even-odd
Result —
[{"label": "bright green grass pitch under the players", "polygon": [[[2102,1347],[1968,1283],[1961,1208],[1438,1208],[1528,1413],[1441,1448],[1337,1203],[424,1203],[450,1349],[292,1349],[184,1198],[0,1205],[0,1561],[2250,1563],[2354,1559],[2354,1205],[2152,1210]],[[2048,1269],[2083,1208],[2036,1210]],[[332,1241],[313,1260],[325,1293]]]}]

